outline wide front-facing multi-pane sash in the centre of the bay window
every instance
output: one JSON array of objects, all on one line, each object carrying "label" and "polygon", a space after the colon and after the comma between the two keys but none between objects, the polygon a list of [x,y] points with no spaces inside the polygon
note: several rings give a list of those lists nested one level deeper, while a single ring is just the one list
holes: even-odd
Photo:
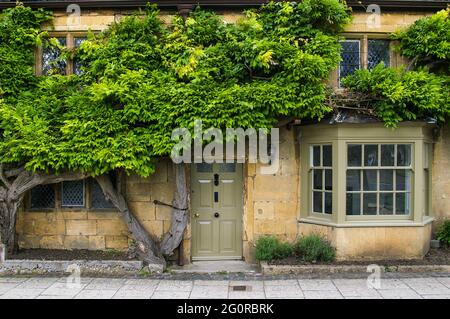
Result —
[{"label": "wide front-facing multi-pane sash in the centre of the bay window", "polygon": [[347,215],[411,213],[412,145],[347,145]]}]

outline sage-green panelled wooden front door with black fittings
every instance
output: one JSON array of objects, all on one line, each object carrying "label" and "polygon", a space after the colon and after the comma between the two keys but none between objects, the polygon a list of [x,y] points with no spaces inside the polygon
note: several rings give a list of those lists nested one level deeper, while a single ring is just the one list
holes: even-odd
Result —
[{"label": "sage-green panelled wooden front door with black fittings", "polygon": [[193,164],[192,259],[242,259],[242,164]]}]

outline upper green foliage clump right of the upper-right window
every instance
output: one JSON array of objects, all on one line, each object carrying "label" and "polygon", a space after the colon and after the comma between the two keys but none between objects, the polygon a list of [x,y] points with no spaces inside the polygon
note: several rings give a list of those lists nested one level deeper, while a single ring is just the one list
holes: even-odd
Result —
[{"label": "upper green foliage clump right of the upper-right window", "polygon": [[[427,63],[436,60],[450,61],[450,8],[417,20],[406,30],[393,34],[400,40],[399,49],[408,58],[418,58]],[[448,65],[447,65],[448,72]]]}]

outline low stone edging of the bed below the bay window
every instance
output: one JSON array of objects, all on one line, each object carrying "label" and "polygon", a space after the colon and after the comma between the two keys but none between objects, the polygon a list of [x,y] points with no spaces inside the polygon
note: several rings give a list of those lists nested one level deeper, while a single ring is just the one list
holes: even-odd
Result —
[{"label": "low stone edging of the bed below the bay window", "polygon": [[[269,265],[267,262],[261,262],[260,266],[262,274],[266,276],[374,272],[373,268],[368,268],[369,265]],[[380,265],[380,271],[450,274],[450,265]]]}]

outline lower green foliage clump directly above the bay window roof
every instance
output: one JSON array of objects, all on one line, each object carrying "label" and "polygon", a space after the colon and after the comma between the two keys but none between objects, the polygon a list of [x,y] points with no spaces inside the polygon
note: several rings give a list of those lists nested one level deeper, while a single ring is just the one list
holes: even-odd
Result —
[{"label": "lower green foliage clump directly above the bay window roof", "polygon": [[343,83],[353,91],[369,94],[375,113],[386,126],[427,117],[444,122],[450,114],[449,78],[424,68],[407,72],[380,63],[370,71],[356,71]]}]

